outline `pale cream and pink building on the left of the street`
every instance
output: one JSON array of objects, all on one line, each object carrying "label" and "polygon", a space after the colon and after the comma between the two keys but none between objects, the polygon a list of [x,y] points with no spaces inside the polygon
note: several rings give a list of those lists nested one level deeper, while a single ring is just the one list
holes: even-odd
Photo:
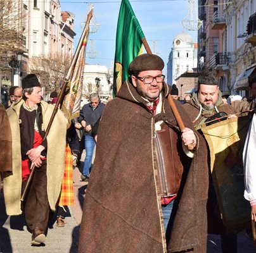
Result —
[{"label": "pale cream and pink building on the left of the street", "polygon": [[58,0],[22,0],[23,39],[19,67],[13,71],[13,85],[21,86],[22,78],[33,71],[32,59],[58,54],[73,55],[74,15],[61,13]]}]

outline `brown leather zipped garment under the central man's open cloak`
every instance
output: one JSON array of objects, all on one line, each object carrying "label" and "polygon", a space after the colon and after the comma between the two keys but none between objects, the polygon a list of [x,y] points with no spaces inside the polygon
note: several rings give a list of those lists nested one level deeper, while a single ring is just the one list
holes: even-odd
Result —
[{"label": "brown leather zipped garment under the central man's open cloak", "polygon": [[161,197],[169,197],[179,191],[183,166],[177,150],[177,132],[166,123],[162,123],[161,128],[155,137],[158,183]]}]

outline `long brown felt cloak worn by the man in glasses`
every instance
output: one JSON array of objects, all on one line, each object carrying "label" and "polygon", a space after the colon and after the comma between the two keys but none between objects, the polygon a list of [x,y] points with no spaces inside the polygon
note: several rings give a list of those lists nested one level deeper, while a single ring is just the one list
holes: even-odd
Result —
[{"label": "long brown felt cloak worn by the man in glasses", "polygon": [[[162,118],[177,127],[163,88]],[[193,129],[179,102],[184,125]],[[159,114],[158,114],[159,116]],[[181,133],[179,133],[180,135]],[[79,252],[206,252],[208,171],[205,141],[197,137],[184,168],[172,233],[163,231],[155,163],[155,117],[127,80],[99,124],[96,159],[80,225]],[[177,144],[181,145],[181,141]],[[188,159],[181,157],[182,161]]]}]

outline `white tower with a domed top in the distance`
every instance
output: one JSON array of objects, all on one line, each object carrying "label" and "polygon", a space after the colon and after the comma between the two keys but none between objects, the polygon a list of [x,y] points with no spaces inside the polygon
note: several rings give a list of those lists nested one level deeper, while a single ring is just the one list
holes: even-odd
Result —
[{"label": "white tower with a domed top in the distance", "polygon": [[167,83],[172,85],[174,80],[182,73],[196,68],[197,44],[193,42],[191,35],[181,32],[172,42],[172,51],[167,63]]}]

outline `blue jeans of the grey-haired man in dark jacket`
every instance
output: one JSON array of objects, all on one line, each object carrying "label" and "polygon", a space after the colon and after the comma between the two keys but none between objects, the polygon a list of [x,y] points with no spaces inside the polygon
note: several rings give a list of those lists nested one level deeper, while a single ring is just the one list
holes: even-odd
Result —
[{"label": "blue jeans of the grey-haired man in dark jacket", "polygon": [[84,138],[84,145],[86,149],[86,158],[84,159],[84,168],[82,170],[82,175],[89,177],[92,165],[91,162],[93,160],[93,150],[96,142],[91,135],[86,133],[86,136]]}]

